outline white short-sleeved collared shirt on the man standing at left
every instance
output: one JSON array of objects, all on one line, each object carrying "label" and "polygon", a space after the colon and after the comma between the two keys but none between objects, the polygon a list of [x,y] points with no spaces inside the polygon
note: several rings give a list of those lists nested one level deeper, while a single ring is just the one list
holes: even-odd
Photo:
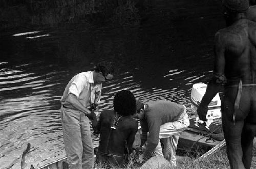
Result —
[{"label": "white short-sleeved collared shirt on the man standing at left", "polygon": [[66,99],[70,93],[74,94],[83,106],[88,107],[91,103],[99,103],[102,84],[95,85],[93,72],[81,72],[75,75],[68,83],[61,98],[61,104],[74,108]]}]

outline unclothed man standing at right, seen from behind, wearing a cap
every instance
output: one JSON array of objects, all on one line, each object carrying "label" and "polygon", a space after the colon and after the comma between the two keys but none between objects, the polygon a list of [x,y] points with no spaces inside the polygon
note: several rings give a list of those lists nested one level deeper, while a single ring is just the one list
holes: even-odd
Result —
[{"label": "unclothed man standing at right, seen from behind, wearing a cap", "polygon": [[197,110],[223,91],[222,126],[231,168],[250,168],[256,135],[256,22],[246,18],[248,0],[224,0],[227,27],[215,35],[214,74]]}]

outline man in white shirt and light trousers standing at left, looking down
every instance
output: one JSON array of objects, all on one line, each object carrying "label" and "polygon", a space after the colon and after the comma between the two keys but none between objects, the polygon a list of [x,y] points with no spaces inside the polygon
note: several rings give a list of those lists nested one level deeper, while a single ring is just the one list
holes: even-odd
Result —
[{"label": "man in white shirt and light trousers standing at left, looking down", "polygon": [[102,82],[112,79],[113,72],[110,63],[99,63],[93,71],[75,75],[63,93],[60,117],[69,168],[94,167],[88,116],[95,114],[89,107],[99,102]]}]

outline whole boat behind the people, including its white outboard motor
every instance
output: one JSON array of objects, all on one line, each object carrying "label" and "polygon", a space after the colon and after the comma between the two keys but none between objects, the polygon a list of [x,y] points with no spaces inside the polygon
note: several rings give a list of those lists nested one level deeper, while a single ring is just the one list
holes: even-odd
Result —
[{"label": "whole boat behind the people, including its white outboard motor", "polygon": [[[193,85],[191,90],[191,111],[196,111],[197,106],[199,105],[204,92],[206,90],[207,85],[203,83],[197,83]],[[214,119],[213,123],[206,127],[206,124],[200,124],[196,121],[196,116],[191,116],[189,119],[190,125],[189,127],[181,132],[179,137],[179,143],[177,145],[177,155],[196,155],[199,156],[199,160],[207,157],[209,154],[214,151],[220,149],[225,145],[224,135],[222,131],[222,125],[220,120],[220,98],[217,95],[212,100],[211,105],[209,105],[210,111],[207,115],[209,118]],[[189,110],[189,109],[188,109]],[[189,113],[190,114],[190,113]],[[192,113],[193,114],[193,113]],[[218,119],[219,118],[219,119]],[[141,129],[139,130],[135,136],[134,147],[138,147],[140,145],[140,134]],[[137,140],[137,141],[136,141]],[[96,151],[97,148],[94,150]],[[96,154],[96,152],[95,152]],[[68,168],[67,157],[61,158],[57,161],[53,161],[44,166],[40,166],[38,169],[61,169]]]}]

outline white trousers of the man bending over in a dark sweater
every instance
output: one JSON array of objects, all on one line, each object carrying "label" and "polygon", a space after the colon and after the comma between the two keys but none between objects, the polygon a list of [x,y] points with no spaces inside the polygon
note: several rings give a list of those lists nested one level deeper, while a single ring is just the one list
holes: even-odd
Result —
[{"label": "white trousers of the man bending over in a dark sweater", "polygon": [[[184,105],[183,105],[184,106]],[[184,106],[185,107],[185,106]],[[188,115],[186,114],[186,108],[182,112],[179,119],[175,122],[169,122],[164,123],[160,127],[159,132],[159,142],[154,150],[155,155],[161,156],[161,157],[168,157],[168,160],[171,164],[174,166],[177,166],[176,164],[176,150],[178,145],[178,140],[180,133],[184,131],[189,126],[189,119]],[[167,145],[164,145],[164,151],[162,151],[160,139],[161,138],[167,138],[167,142],[169,142]],[[166,142],[165,142],[166,143]],[[164,152],[164,155],[163,155]],[[166,154],[165,154],[166,153]]]}]

